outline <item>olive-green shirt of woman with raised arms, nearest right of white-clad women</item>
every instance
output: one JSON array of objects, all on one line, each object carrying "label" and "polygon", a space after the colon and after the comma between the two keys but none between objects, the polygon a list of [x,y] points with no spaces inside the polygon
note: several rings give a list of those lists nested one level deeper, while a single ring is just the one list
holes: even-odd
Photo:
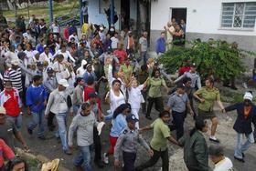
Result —
[{"label": "olive-green shirt of woman with raised arms, nearest right of white-clad women", "polygon": [[149,78],[148,85],[150,85],[148,96],[150,97],[160,97],[162,96],[161,93],[161,86],[165,85],[165,80],[163,78]]}]

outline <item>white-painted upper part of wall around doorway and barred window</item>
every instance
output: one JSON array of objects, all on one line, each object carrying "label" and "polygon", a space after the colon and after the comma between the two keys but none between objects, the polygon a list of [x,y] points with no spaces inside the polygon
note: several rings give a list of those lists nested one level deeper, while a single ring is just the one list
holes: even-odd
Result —
[{"label": "white-painted upper part of wall around doorway and barred window", "polygon": [[255,0],[158,0],[151,3],[151,30],[163,30],[170,19],[170,8],[187,8],[187,32],[224,35],[256,35],[254,30],[220,29],[221,3]]}]

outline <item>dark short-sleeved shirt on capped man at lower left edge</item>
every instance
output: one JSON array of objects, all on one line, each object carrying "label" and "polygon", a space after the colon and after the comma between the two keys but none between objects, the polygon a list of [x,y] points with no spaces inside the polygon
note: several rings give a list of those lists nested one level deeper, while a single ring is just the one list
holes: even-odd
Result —
[{"label": "dark short-sleeved shirt on capped man at lower left edge", "polygon": [[6,145],[10,146],[14,150],[14,135],[18,132],[16,126],[9,121],[5,121],[5,124],[0,125],[0,138],[2,138]]}]

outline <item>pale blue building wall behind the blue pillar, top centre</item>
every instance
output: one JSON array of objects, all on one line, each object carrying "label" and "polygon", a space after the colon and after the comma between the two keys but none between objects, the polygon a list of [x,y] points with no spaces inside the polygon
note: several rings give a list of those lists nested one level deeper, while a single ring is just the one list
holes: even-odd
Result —
[{"label": "pale blue building wall behind the blue pillar, top centre", "polygon": [[[97,24],[97,25],[105,25],[108,27],[108,20],[105,13],[100,14],[100,8],[99,8],[99,0],[89,0],[88,1],[88,15],[89,15],[89,23]],[[120,0],[114,0],[114,6],[115,11],[120,18],[121,14],[121,1]],[[120,20],[118,20],[115,24],[115,28],[119,29],[120,27]]]}]

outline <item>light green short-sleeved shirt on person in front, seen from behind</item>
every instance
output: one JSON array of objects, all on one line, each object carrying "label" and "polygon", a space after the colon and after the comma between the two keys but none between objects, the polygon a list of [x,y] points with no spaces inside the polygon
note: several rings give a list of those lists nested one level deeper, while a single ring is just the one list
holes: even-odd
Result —
[{"label": "light green short-sleeved shirt on person in front, seen from behind", "polygon": [[150,146],[156,151],[164,151],[167,148],[167,137],[171,136],[170,129],[161,118],[155,120],[151,124],[154,130],[154,136],[150,142]]}]

